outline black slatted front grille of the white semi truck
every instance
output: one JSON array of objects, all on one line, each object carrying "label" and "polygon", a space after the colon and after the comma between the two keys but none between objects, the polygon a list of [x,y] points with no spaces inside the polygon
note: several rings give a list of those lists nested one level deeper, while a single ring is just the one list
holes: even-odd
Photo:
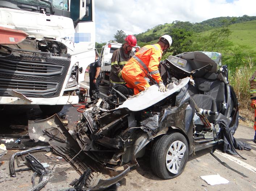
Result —
[{"label": "black slatted front grille of the white semi truck", "polygon": [[27,97],[57,97],[62,89],[71,56],[11,49],[0,58],[0,96],[15,90]]}]

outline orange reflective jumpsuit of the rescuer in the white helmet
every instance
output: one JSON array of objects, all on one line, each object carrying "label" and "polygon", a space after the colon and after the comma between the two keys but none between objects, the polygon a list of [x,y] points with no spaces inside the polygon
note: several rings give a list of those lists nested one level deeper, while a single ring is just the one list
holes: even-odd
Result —
[{"label": "orange reflective jumpsuit of the rescuer in the white helmet", "polygon": [[134,94],[150,87],[144,79],[150,73],[157,83],[162,81],[158,65],[163,51],[159,44],[143,46],[123,67],[122,77],[129,88],[134,89]]}]

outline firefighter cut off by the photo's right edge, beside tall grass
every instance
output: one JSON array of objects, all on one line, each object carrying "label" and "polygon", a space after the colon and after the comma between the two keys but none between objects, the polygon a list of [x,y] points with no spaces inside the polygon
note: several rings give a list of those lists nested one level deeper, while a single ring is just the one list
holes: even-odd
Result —
[{"label": "firefighter cut off by the photo's right edge, beside tall grass", "polygon": [[250,95],[251,95],[251,107],[255,110],[254,114],[254,130],[255,130],[255,135],[254,135],[254,142],[256,143],[256,71],[252,75],[252,77],[249,79],[251,89],[250,89]]}]

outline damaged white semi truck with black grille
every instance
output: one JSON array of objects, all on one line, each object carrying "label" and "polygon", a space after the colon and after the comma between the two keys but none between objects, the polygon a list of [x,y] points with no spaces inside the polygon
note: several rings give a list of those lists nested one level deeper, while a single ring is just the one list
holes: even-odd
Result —
[{"label": "damaged white semi truck with black grille", "polygon": [[1,108],[39,105],[54,114],[79,102],[79,82],[95,61],[94,10],[94,0],[0,0],[0,27],[28,34],[0,44]]}]

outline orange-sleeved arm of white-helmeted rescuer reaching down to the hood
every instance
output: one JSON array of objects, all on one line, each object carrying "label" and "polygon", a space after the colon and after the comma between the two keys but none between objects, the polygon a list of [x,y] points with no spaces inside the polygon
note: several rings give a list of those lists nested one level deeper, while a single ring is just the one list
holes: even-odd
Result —
[{"label": "orange-sleeved arm of white-helmeted rescuer reaching down to the hood", "polygon": [[159,81],[162,81],[160,72],[158,70],[158,65],[161,59],[161,51],[160,50],[152,50],[150,62],[148,64],[148,70],[151,76],[156,80],[159,84]]}]

